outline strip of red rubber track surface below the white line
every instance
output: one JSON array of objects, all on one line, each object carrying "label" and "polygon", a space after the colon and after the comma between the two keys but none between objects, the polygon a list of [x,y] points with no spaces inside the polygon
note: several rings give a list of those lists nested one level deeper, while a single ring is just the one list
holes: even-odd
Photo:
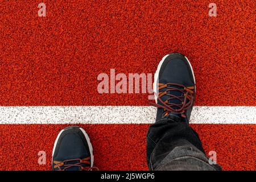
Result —
[{"label": "strip of red rubber track surface below the white line", "polygon": [[[0,125],[1,160],[5,170],[51,170],[55,138],[68,125]],[[95,166],[101,170],[147,170],[148,125],[79,125],[93,145]],[[256,125],[192,125],[205,151],[217,152],[224,170],[255,170]],[[5,146],[5,147],[3,147]],[[252,148],[254,146],[254,149]],[[38,152],[46,152],[46,165]]]}]

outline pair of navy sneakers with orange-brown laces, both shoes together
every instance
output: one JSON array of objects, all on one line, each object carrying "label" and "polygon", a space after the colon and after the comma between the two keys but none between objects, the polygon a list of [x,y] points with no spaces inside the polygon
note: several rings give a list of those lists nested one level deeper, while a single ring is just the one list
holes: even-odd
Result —
[{"label": "pair of navy sneakers with orange-brown laces, both shoes together", "polygon": [[[189,122],[195,101],[195,76],[187,57],[171,53],[160,61],[154,77],[156,122],[176,115]],[[70,126],[60,131],[52,153],[52,170],[93,170],[93,148],[81,127]]]}]

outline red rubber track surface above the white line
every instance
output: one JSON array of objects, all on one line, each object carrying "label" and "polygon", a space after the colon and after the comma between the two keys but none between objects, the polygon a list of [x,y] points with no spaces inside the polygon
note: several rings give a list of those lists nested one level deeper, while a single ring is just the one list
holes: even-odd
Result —
[{"label": "red rubber track surface above the white line", "polygon": [[0,6],[1,105],[147,105],[147,94],[98,94],[97,76],[154,73],[191,60],[196,105],[255,105],[255,1],[35,1]]}]

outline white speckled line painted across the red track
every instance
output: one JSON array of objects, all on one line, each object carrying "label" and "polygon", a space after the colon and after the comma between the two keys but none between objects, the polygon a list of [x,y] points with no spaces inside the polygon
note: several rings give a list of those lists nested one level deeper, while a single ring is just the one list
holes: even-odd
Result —
[{"label": "white speckled line painted across the red track", "polygon": [[[255,124],[256,106],[194,106],[191,122]],[[154,123],[152,106],[0,106],[0,124]]]}]

